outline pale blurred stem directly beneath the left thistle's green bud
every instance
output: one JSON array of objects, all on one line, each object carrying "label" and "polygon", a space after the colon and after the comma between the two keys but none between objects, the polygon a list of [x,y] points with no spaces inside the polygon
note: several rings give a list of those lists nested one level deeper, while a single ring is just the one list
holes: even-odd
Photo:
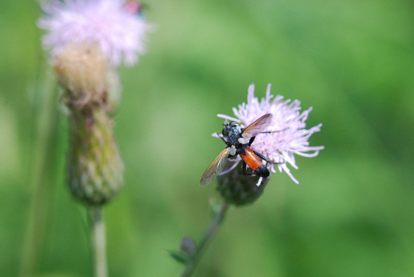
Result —
[{"label": "pale blurred stem directly beneath the left thistle's green bud", "polygon": [[94,277],[107,277],[105,225],[102,219],[102,207],[90,206],[88,221],[91,229],[91,257]]}]

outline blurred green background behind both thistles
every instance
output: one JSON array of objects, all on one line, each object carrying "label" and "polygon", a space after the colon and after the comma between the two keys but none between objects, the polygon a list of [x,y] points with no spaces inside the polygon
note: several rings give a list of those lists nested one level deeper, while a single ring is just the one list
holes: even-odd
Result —
[{"label": "blurred green background behind both thistles", "polygon": [[[110,276],[179,276],[218,198],[199,180],[217,113],[256,85],[314,110],[316,158],[231,208],[198,277],[414,276],[414,5],[408,0],[159,1],[148,54],[121,68],[126,186],[104,211]],[[0,275],[91,275],[85,209],[64,182],[67,120],[36,1],[0,1]]]}]

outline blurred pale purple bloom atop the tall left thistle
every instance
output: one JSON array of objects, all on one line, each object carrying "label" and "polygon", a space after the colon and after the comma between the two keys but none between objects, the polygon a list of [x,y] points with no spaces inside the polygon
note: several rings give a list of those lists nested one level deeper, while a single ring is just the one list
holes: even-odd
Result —
[{"label": "blurred pale purple bloom atop the tall left thistle", "polygon": [[47,31],[42,42],[52,55],[69,43],[98,44],[116,67],[133,65],[144,54],[151,26],[125,0],[51,0],[42,5],[38,27]]}]

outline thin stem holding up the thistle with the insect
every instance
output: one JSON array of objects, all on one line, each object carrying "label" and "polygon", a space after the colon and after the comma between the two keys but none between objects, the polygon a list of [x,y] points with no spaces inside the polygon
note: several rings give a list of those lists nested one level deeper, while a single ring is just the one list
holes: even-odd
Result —
[{"label": "thin stem holding up the thistle with the insect", "polygon": [[181,277],[189,277],[194,272],[208,244],[211,242],[211,240],[214,238],[214,235],[217,233],[218,227],[220,223],[223,221],[223,218],[224,218],[224,215],[226,214],[227,209],[228,209],[228,203],[226,203],[226,201],[223,201],[219,212],[213,218],[213,221],[208,226],[203,239],[198,244],[197,251],[194,253],[194,256],[192,256],[191,259],[188,260],[186,269],[184,270]]}]

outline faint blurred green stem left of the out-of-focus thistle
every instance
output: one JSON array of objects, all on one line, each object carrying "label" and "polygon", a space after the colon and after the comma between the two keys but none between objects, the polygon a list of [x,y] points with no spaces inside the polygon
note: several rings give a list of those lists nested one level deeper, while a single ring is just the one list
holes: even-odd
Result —
[{"label": "faint blurred green stem left of the out-of-focus thistle", "polygon": [[58,132],[58,112],[56,109],[57,92],[53,74],[44,69],[44,64],[39,64],[38,77],[33,89],[33,116],[29,131],[30,136],[35,137],[30,146],[28,155],[30,158],[27,167],[30,168],[30,176],[26,182],[31,191],[31,203],[26,220],[26,230],[23,241],[20,276],[36,275],[38,265],[44,254],[44,243],[47,238],[51,220],[51,203],[53,203],[53,189],[56,184],[52,172],[56,168],[56,139]]}]

